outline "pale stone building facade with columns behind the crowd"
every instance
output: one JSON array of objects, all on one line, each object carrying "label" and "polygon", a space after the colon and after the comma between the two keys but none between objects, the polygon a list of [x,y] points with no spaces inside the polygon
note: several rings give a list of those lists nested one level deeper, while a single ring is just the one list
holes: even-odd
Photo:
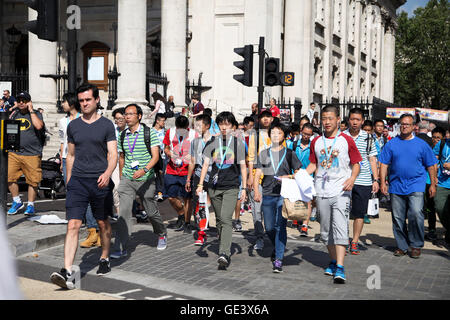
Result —
[{"label": "pale stone building facade with columns behind the crowd", "polygon": [[[186,103],[186,81],[202,76],[202,101],[238,118],[257,101],[259,37],[284,71],[295,72],[293,87],[267,87],[270,97],[344,101],[377,97],[393,101],[396,10],[405,0],[78,0],[77,68],[82,81],[96,79],[108,99],[107,72],[116,63],[120,77],[116,106],[147,104],[146,74],[167,75],[168,95]],[[56,82],[41,74],[67,68],[67,0],[61,0],[58,43],[27,33],[36,13],[18,0],[0,5],[0,72],[29,72],[29,91],[49,117],[56,111]],[[117,37],[113,24],[117,24]],[[13,45],[6,30],[22,32]],[[241,59],[233,48],[254,44],[253,87],[233,79]],[[59,55],[59,49],[60,55]],[[91,70],[92,69],[92,70]],[[150,101],[153,103],[153,101]],[[149,110],[146,108],[146,110]],[[60,115],[55,115],[60,116]]]}]

